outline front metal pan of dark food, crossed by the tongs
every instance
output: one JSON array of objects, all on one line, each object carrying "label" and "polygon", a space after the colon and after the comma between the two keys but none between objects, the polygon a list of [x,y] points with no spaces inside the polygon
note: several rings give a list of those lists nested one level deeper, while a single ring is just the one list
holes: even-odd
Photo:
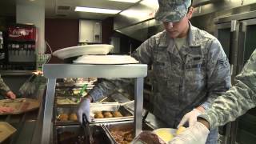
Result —
[{"label": "front metal pan of dark food, crossed by the tongs", "polygon": [[[90,131],[94,138],[95,144],[106,143],[111,144],[114,143],[110,135],[103,130],[102,126],[90,126]],[[86,143],[88,140],[86,139],[85,131],[81,126],[57,126],[56,134],[55,134],[55,142],[58,144],[72,144],[72,143]]]}]

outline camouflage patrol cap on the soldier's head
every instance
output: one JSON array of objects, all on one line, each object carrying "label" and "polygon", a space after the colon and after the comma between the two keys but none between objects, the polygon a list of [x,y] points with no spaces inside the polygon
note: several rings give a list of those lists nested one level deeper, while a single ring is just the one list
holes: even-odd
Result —
[{"label": "camouflage patrol cap on the soldier's head", "polygon": [[191,0],[158,0],[159,8],[154,18],[162,22],[178,22],[185,17]]}]

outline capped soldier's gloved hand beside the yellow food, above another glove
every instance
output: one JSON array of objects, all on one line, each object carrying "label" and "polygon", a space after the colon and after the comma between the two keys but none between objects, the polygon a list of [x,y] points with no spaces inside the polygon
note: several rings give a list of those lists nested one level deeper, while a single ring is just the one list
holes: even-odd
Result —
[{"label": "capped soldier's gloved hand beside the yellow food, above another glove", "polygon": [[189,113],[186,113],[183,116],[181,122],[179,122],[178,127],[183,126],[187,121],[189,122],[189,126],[192,126],[194,124],[194,122],[197,122],[198,115],[200,115],[200,114],[202,114],[202,113],[198,109],[193,109]]}]

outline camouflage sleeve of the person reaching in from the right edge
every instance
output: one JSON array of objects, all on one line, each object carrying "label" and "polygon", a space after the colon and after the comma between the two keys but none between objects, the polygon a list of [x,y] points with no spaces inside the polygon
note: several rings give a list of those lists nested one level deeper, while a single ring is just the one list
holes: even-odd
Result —
[{"label": "camouflage sleeve of the person reaching in from the right edge", "polygon": [[210,129],[234,121],[256,104],[256,50],[236,77],[236,84],[225,94],[218,97],[199,117],[210,123]]}]

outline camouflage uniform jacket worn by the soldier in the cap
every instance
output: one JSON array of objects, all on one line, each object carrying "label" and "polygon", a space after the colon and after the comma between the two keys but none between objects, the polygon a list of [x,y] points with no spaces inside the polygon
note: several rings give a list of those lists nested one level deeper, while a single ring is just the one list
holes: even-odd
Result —
[{"label": "camouflage uniform jacket worn by the soldier in the cap", "polygon": [[[188,45],[178,51],[164,30],[133,54],[139,62],[153,66],[154,114],[170,127],[176,127],[194,107],[207,109],[230,88],[230,65],[218,39],[191,24],[188,38]],[[106,80],[89,94],[97,101],[122,83],[121,79]]]}]

